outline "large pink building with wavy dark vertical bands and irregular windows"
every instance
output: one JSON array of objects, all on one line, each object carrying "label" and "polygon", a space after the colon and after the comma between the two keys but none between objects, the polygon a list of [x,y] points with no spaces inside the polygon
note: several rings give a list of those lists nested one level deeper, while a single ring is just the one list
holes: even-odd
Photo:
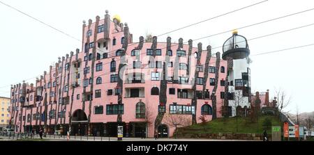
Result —
[{"label": "large pink building with wavy dark vertical bands and irregular windows", "polygon": [[[223,116],[227,61],[219,52],[212,56],[210,46],[203,50],[202,43],[193,47],[192,40],[172,43],[170,37],[133,42],[128,25],[119,17],[110,20],[107,11],[105,19],[84,22],[82,31],[82,51],[59,58],[35,85],[12,85],[16,132],[43,127],[50,134],[70,129],[71,134],[117,136],[121,125],[125,136],[146,131],[153,137],[156,129],[172,136],[166,115],[186,115],[190,124],[201,122],[201,115],[208,121]],[[244,71],[232,74],[237,72]],[[242,79],[248,78],[246,70]]]}]

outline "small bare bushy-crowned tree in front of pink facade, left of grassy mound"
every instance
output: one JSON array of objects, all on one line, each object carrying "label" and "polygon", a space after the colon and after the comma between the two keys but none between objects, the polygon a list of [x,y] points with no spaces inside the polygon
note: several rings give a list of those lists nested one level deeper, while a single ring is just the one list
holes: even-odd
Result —
[{"label": "small bare bushy-crowned tree in front of pink facade, left of grassy mound", "polygon": [[170,127],[174,127],[176,131],[176,138],[179,132],[179,127],[186,127],[192,124],[190,115],[177,115],[177,114],[165,114],[164,117],[165,124]]}]

